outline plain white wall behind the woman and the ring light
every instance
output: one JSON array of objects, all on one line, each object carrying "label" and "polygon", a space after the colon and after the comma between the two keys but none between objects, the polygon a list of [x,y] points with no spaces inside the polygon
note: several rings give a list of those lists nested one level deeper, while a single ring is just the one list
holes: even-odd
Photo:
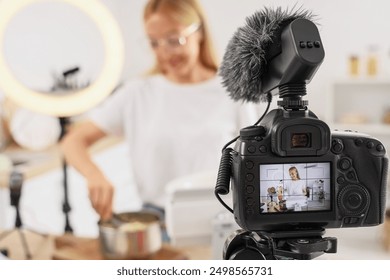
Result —
[{"label": "plain white wall behind the woman and the ring light", "polygon": [[[153,57],[146,48],[142,10],[146,0],[102,0],[117,18],[125,38],[123,78],[147,70]],[[289,0],[201,0],[208,14],[219,56],[245,17],[263,7],[292,7]],[[45,5],[45,6],[43,6]],[[326,57],[308,87],[310,108],[320,117],[327,114],[328,90],[335,79],[346,76],[351,54],[365,56],[369,45],[378,45],[383,75],[390,77],[390,20],[387,0],[296,1],[318,15],[317,22]],[[91,21],[64,4],[36,4],[13,21],[6,41],[7,61],[15,74],[37,89],[50,88],[50,73],[73,65],[82,66],[81,78],[94,80],[102,63],[102,44]],[[24,16],[24,17],[22,17]],[[12,31],[12,32],[11,32]]]}]

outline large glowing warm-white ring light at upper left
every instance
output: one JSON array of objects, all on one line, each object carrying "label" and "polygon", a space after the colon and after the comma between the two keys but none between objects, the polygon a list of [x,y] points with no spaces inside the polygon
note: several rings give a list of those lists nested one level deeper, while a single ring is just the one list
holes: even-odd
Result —
[{"label": "large glowing warm-white ring light at upper left", "polygon": [[[12,74],[3,57],[7,24],[28,5],[40,2],[63,2],[84,12],[97,26],[104,44],[104,63],[96,81],[71,95],[51,96],[22,85]],[[124,60],[120,28],[108,9],[98,0],[2,0],[0,1],[0,87],[19,106],[52,116],[77,115],[96,106],[117,86]]]}]

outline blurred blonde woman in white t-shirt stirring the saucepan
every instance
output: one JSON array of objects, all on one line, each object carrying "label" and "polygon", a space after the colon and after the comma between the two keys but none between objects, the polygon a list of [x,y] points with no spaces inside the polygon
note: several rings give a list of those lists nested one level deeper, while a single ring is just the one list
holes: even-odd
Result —
[{"label": "blurred blonde woman in white t-shirt stirring the saucepan", "polygon": [[196,0],[150,0],[144,25],[156,61],[150,75],[125,83],[62,142],[66,160],[85,176],[102,219],[112,214],[114,187],[87,152],[99,139],[124,136],[141,199],[162,208],[167,182],[217,172],[223,145],[253,121],[221,87]]}]

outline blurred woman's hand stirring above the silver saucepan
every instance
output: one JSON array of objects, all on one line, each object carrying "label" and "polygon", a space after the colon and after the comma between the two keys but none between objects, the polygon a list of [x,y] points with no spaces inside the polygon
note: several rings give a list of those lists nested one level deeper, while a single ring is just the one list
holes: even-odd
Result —
[{"label": "blurred woman's hand stirring above the silver saucepan", "polygon": [[114,187],[103,175],[87,178],[89,198],[102,221],[112,216]]}]

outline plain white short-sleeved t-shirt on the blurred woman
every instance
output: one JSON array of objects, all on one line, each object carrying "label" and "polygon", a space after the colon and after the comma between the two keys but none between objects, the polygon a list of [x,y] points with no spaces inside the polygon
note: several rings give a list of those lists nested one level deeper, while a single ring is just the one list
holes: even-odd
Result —
[{"label": "plain white short-sleeved t-shirt on the blurred woman", "polygon": [[255,111],[232,101],[218,77],[188,85],[155,75],[127,82],[90,118],[125,137],[141,199],[163,206],[169,181],[217,172],[222,147],[256,121]]}]

